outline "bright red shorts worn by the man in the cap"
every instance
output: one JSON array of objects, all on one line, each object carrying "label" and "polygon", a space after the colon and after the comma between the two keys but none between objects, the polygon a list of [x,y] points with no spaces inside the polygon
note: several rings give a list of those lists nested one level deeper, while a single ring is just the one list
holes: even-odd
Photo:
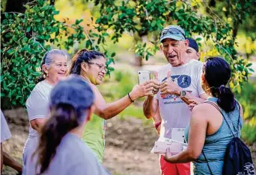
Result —
[{"label": "bright red shorts worn by the man in the cap", "polygon": [[190,162],[172,164],[160,156],[160,168],[162,175],[190,175]]}]

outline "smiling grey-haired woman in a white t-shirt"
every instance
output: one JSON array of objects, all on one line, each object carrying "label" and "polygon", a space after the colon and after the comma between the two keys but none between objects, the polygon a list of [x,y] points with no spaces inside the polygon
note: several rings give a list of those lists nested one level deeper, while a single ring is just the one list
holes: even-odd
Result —
[{"label": "smiling grey-haired woman in a white t-shirt", "polygon": [[40,82],[34,87],[29,95],[25,106],[28,110],[28,120],[30,123],[28,139],[23,149],[23,159],[31,147],[34,147],[34,141],[37,140],[37,131],[42,126],[49,113],[49,94],[53,86],[59,80],[66,77],[67,54],[65,51],[53,49],[46,52],[41,63],[42,77]]}]

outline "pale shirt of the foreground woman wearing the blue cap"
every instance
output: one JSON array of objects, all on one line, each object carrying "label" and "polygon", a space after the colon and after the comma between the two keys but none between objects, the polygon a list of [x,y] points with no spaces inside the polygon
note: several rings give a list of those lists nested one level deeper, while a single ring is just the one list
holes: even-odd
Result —
[{"label": "pale shirt of the foreground woman wearing the blue cap", "polygon": [[[35,150],[35,149],[34,149]],[[25,160],[25,175],[39,173],[40,168],[35,172],[37,156],[31,161],[34,150],[28,153]],[[78,136],[67,133],[61,140],[61,144],[56,150],[56,155],[52,159],[49,168],[43,174],[109,174],[94,156],[91,149]]]}]

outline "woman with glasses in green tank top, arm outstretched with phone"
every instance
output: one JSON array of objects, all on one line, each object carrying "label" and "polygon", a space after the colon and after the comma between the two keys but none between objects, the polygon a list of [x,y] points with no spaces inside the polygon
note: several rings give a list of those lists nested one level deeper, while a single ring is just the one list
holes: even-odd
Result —
[{"label": "woman with glasses in green tank top, arm outstretched with phone", "polygon": [[149,80],[141,85],[134,86],[132,91],[124,98],[107,104],[99,89],[97,89],[97,85],[103,82],[106,72],[106,58],[104,55],[98,51],[88,51],[86,49],[82,49],[74,55],[69,71],[69,74],[80,74],[94,90],[94,116],[91,121],[88,121],[82,140],[94,150],[99,162],[103,162],[106,120],[118,115],[137,98],[153,95],[152,90],[159,89],[159,86]]}]

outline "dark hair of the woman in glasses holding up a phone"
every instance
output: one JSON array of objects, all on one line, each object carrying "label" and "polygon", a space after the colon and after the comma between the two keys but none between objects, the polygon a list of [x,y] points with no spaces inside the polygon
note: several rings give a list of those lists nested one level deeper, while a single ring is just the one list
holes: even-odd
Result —
[{"label": "dark hair of the woman in glasses holding up a phone", "polygon": [[72,58],[72,63],[70,71],[68,74],[80,74],[81,73],[81,63],[88,63],[91,60],[97,59],[99,57],[104,57],[99,51],[90,51],[87,49],[81,49]]}]

